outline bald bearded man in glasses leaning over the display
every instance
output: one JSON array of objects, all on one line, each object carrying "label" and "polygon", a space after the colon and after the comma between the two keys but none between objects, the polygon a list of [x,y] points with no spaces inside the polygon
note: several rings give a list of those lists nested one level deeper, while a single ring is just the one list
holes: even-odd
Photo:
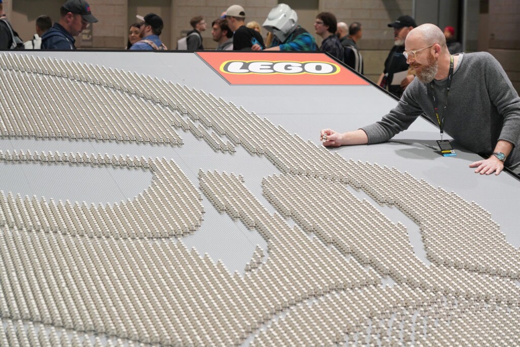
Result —
[{"label": "bald bearded man in glasses leaning over the display", "polygon": [[482,156],[475,172],[520,174],[520,98],[489,53],[450,55],[443,32],[423,24],[406,37],[407,63],[417,79],[381,121],[356,131],[321,131],[324,146],[382,143],[406,130],[422,113],[460,145]]}]

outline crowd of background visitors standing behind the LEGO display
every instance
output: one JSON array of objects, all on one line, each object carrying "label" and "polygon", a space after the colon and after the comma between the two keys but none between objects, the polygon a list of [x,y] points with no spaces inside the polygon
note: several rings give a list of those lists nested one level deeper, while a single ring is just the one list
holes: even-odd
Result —
[{"label": "crowd of background visitors standing behind the LEGO display", "polygon": [[[0,49],[75,49],[75,36],[79,35],[88,25],[97,19],[92,15],[90,6],[85,0],[68,0],[60,8],[60,19],[51,23],[49,16],[40,16],[36,19],[36,33],[25,43],[15,40],[18,34],[7,21],[0,0]],[[167,49],[161,41],[160,35],[164,29],[162,18],[150,13],[146,16],[136,16],[138,21],[128,28],[129,50]],[[363,58],[359,52],[358,43],[362,37],[362,26],[359,22],[349,25],[337,22],[331,12],[321,12],[314,22],[315,33],[323,40],[318,47],[316,40],[305,28],[298,24],[296,11],[286,4],[278,4],[272,8],[262,26],[251,21],[245,23],[245,10],[240,5],[227,8],[220,18],[211,23],[211,35],[217,43],[217,50],[280,50],[280,51],[315,51],[326,52],[343,61],[347,66],[363,74]],[[204,49],[202,32],[207,23],[202,16],[190,20],[192,30],[185,37],[177,41],[176,49],[202,50]],[[394,23],[396,41],[388,58],[385,61],[384,71],[378,82],[383,88],[400,97],[404,88],[414,78],[413,70],[400,81],[394,81],[394,73],[408,69],[406,59],[402,57],[406,34],[414,27],[415,21],[409,16],[399,17]],[[262,28],[267,36],[262,37]],[[403,29],[404,28],[404,29]],[[402,30],[401,30],[402,29]],[[453,27],[445,28],[445,35],[449,42],[450,52],[461,51],[461,44],[455,39]],[[18,37],[19,39],[19,37]],[[18,41],[18,42],[14,42]],[[397,57],[397,55],[399,55]],[[395,58],[394,58],[395,56]],[[403,76],[402,73],[398,76]]]}]

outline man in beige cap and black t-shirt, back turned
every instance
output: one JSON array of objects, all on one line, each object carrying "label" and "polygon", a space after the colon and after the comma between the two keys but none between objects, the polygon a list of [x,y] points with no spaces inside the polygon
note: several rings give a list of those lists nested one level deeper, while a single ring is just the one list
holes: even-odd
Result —
[{"label": "man in beige cap and black t-shirt, back turned", "polygon": [[265,48],[262,35],[245,26],[245,11],[242,6],[229,6],[226,10],[226,20],[229,29],[233,31],[233,50],[251,50],[254,44]]}]

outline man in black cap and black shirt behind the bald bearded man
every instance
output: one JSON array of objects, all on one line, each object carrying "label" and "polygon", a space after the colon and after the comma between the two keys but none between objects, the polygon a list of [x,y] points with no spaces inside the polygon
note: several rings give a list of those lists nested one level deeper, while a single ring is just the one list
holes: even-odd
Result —
[{"label": "man in black cap and black shirt behind the bald bearded man", "polygon": [[408,71],[408,64],[402,52],[405,51],[406,36],[413,28],[417,27],[417,23],[412,17],[405,15],[388,24],[388,27],[394,28],[394,47],[385,60],[385,68],[379,77],[378,85],[400,98],[402,92],[413,80],[413,74],[408,73],[406,78],[401,79],[401,81],[394,81],[394,74]]}]

